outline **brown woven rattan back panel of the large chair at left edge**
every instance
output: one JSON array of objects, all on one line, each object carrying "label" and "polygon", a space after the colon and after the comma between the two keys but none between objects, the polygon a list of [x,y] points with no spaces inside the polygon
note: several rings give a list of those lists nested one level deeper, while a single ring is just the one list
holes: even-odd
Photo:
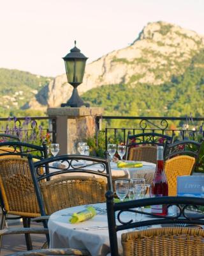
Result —
[{"label": "brown woven rattan back panel of the large chair at left edge", "polygon": [[7,214],[40,216],[27,159],[0,159],[0,189]]}]

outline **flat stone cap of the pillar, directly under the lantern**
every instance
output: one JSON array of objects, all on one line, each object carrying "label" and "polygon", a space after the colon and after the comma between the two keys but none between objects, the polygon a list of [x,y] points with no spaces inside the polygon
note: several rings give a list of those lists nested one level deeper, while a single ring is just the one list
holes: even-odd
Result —
[{"label": "flat stone cap of the pillar, directly under the lantern", "polygon": [[91,108],[48,108],[48,116],[95,116],[102,115],[103,108],[91,107]]}]

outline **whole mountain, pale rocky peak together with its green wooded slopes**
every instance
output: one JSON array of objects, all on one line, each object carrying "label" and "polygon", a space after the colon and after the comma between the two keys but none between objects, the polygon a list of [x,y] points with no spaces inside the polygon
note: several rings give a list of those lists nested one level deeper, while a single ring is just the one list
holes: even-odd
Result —
[{"label": "whole mountain, pale rocky peak together with its green wooded slopes", "polygon": [[[149,23],[133,44],[88,64],[78,92],[85,102],[103,106],[109,115],[180,116],[191,112],[203,116],[203,49],[204,36],[194,31],[167,22]],[[54,79],[36,78],[41,80],[26,89],[26,98],[31,100],[20,101],[20,95],[16,109],[20,106],[45,111],[47,107],[60,106],[71,96],[73,88],[67,83],[66,74]],[[1,79],[0,76],[0,89]],[[12,95],[17,93],[12,85],[15,83],[15,79],[7,86],[4,83],[6,93],[10,86]]]}]

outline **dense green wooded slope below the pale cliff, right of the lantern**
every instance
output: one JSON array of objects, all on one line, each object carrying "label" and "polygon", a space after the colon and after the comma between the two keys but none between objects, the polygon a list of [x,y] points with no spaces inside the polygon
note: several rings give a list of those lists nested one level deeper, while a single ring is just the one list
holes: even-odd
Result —
[{"label": "dense green wooded slope below the pale cliff, right of the lantern", "polygon": [[83,94],[91,106],[105,108],[106,115],[204,116],[204,49],[198,52],[180,76],[155,86],[131,81],[94,88]]}]

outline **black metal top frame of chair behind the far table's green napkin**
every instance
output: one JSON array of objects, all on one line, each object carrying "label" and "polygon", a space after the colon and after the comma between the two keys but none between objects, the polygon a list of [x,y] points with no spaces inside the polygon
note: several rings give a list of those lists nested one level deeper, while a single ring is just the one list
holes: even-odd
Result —
[{"label": "black metal top frame of chair behind the far table's green napkin", "polygon": [[[163,143],[159,142],[159,139],[164,139]],[[135,139],[135,142],[129,143],[130,140]],[[165,141],[169,141],[169,143],[173,142],[173,136],[167,136],[164,134],[156,133],[156,132],[144,132],[140,134],[130,135],[128,132],[128,138],[126,142],[126,160],[128,159],[128,148],[135,147],[136,145],[159,145],[165,147]]]}]

